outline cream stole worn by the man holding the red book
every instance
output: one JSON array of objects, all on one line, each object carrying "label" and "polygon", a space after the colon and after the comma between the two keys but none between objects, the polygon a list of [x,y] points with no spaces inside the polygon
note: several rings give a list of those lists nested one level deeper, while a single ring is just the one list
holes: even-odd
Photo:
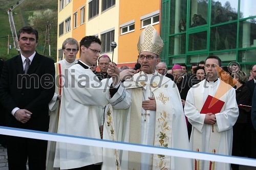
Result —
[{"label": "cream stole worn by the man holding the red book", "polygon": [[[220,81],[219,86],[217,87],[215,97],[217,99],[220,99],[224,102],[226,102],[226,93],[223,93],[223,88],[228,88],[226,84],[223,81]],[[204,87],[205,86],[205,80],[199,83],[199,86],[195,88],[194,90],[194,101],[195,101],[195,107],[197,110],[201,111],[204,102]],[[231,86],[230,86],[231,87]],[[229,88],[230,89],[230,88]],[[227,90],[227,89],[226,89]],[[227,91],[226,91],[227,92]],[[221,112],[223,112],[225,108],[226,103],[223,105]],[[207,126],[207,125],[204,125]],[[220,139],[221,139],[221,132],[218,132],[217,130],[217,123],[213,126],[213,132],[210,132],[210,139],[209,139],[209,149],[208,153],[218,154],[219,153],[219,147],[220,147]],[[196,128],[194,128],[193,131],[193,151],[202,152],[202,133],[199,132]],[[207,163],[207,167],[209,170],[215,170],[217,167],[217,162],[212,161],[204,161],[204,163]],[[202,160],[199,159],[193,159],[193,169],[194,170],[202,170]]]}]

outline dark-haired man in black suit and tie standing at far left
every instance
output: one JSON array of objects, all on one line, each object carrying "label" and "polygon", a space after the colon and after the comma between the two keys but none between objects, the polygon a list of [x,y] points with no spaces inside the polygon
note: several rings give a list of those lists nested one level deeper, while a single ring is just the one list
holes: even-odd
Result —
[{"label": "dark-haired man in black suit and tie standing at far left", "polygon": [[[38,32],[23,27],[18,32],[20,54],[4,64],[1,103],[6,109],[6,126],[47,132],[48,104],[54,86],[54,61],[35,52]],[[29,60],[28,60],[29,59]],[[9,170],[46,169],[47,141],[7,136]]]}]

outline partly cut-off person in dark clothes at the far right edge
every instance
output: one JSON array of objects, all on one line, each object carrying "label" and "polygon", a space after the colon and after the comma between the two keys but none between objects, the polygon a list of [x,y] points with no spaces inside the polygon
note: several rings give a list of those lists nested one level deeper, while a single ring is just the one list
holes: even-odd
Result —
[{"label": "partly cut-off person in dark clothes at the far right edge", "polygon": [[[253,79],[246,82],[245,85],[249,88],[250,93],[253,94],[255,83],[256,83],[256,65],[253,65],[251,67],[251,74]],[[251,95],[250,102],[252,103],[252,95]],[[256,158],[256,145],[255,145],[256,131],[253,129],[253,126],[252,126],[251,115],[248,116],[248,127],[247,127],[246,133],[247,133],[246,136],[248,136],[248,139],[247,139],[248,143],[246,143],[245,146],[247,146],[246,151],[247,151],[248,157]]]}]

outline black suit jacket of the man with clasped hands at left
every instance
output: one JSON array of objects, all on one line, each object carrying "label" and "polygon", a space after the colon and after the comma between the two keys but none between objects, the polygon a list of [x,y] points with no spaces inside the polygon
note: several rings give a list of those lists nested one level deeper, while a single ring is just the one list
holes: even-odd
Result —
[{"label": "black suit jacket of the man with clasped hands at left", "polygon": [[[27,75],[24,74],[20,55],[5,61],[0,96],[6,109],[6,126],[48,131],[48,104],[54,95],[54,77],[54,61],[38,53],[35,54]],[[27,123],[18,122],[11,114],[15,107],[32,112]]]}]

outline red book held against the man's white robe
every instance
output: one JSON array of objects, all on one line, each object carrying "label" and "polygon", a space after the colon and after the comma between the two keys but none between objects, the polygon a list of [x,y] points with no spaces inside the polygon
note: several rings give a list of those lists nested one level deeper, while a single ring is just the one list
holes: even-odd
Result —
[{"label": "red book held against the man's white robe", "polygon": [[203,105],[202,110],[200,111],[201,114],[206,114],[206,113],[212,113],[212,114],[216,114],[216,113],[220,113],[223,105],[225,102],[214,98],[211,95],[207,96],[207,99]]}]

